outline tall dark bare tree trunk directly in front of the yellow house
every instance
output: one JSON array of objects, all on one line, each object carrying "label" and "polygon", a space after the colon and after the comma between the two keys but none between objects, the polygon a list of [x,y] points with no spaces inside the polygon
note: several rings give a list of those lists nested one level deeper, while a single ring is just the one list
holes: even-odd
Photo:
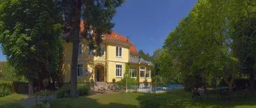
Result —
[{"label": "tall dark bare tree trunk directly in front of the yellow house", "polygon": [[80,17],[81,17],[81,0],[77,0],[74,8],[74,38],[72,49],[72,64],[71,64],[71,91],[72,98],[77,97],[77,59],[79,47],[79,33],[80,33]]}]

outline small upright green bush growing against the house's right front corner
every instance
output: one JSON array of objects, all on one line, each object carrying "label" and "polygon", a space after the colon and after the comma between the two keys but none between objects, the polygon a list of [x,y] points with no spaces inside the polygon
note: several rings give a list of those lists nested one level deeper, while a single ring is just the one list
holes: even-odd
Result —
[{"label": "small upright green bush growing against the house's right front corner", "polygon": [[127,80],[127,88],[131,88],[131,85],[136,84],[136,78],[131,77],[131,71],[130,71],[130,64],[125,64],[125,70],[123,77],[120,81],[117,81],[118,84],[122,85],[123,87],[126,87],[126,80]]}]

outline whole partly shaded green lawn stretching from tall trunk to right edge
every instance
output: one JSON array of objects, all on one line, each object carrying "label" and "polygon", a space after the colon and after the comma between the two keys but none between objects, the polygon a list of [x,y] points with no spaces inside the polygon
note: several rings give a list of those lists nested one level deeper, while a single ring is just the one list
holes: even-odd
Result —
[{"label": "whole partly shaded green lawn stretching from tall trunk to right edge", "polygon": [[190,93],[164,94],[117,93],[94,94],[75,99],[57,99],[52,107],[256,107],[256,98],[218,100],[208,96],[203,100],[191,100]]}]

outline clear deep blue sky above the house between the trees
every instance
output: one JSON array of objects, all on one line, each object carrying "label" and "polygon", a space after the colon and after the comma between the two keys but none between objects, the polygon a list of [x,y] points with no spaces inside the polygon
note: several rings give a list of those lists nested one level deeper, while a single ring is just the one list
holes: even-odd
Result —
[{"label": "clear deep blue sky above the house between the trees", "polygon": [[[188,15],[196,0],[126,0],[113,18],[113,30],[129,36],[137,50],[153,54],[179,20]],[[0,48],[1,49],[1,48]],[[0,61],[6,57],[0,51]]]}]

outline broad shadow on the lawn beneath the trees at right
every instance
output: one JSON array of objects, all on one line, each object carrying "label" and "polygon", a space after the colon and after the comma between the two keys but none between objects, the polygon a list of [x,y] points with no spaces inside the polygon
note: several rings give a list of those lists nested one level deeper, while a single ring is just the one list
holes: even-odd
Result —
[{"label": "broad shadow on the lawn beneath the trees at right", "polygon": [[163,94],[144,94],[137,98],[140,107],[256,107],[256,98],[233,98],[219,100],[218,95],[209,95],[202,100],[192,100],[191,94],[173,91]]}]

